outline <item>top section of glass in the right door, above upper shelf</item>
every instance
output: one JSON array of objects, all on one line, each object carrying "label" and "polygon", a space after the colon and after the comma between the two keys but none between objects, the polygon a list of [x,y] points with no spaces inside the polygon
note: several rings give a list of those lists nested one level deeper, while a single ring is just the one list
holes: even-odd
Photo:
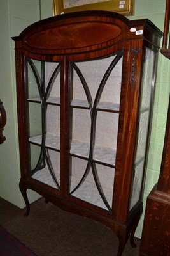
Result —
[{"label": "top section of glass in the right door, above upper shelf", "polygon": [[[78,62],[76,66],[79,68],[81,75],[84,77],[87,86],[90,90],[90,95],[92,97],[92,102],[96,98],[97,90],[99,85],[103,80],[104,74],[108,67],[110,67],[113,61],[116,61],[116,56],[110,56],[108,58],[103,58],[99,60]],[[87,100],[85,95],[85,90],[81,84],[80,77],[76,73],[76,70],[73,70],[73,100]],[[122,58],[117,61],[115,67],[111,71],[111,74],[106,80],[106,85],[104,86],[103,93],[101,94],[101,102],[111,102],[111,103],[120,103],[120,88],[122,81]]]}]

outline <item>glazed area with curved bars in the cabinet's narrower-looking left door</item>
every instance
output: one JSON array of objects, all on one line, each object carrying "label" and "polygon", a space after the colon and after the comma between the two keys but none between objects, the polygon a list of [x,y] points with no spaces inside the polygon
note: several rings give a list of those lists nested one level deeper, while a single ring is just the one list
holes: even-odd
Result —
[{"label": "glazed area with curved bars in the cabinet's narrower-looking left door", "polygon": [[60,189],[60,63],[25,61],[30,176]]}]

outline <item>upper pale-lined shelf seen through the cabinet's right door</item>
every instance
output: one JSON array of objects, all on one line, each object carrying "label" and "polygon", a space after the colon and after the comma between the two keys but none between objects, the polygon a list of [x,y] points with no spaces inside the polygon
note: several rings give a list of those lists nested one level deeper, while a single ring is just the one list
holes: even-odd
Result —
[{"label": "upper pale-lined shelf seen through the cabinet's right door", "polygon": [[[72,100],[71,107],[89,109],[89,104],[87,100]],[[119,113],[119,104],[113,104],[111,102],[99,102],[96,109],[99,111]]]}]

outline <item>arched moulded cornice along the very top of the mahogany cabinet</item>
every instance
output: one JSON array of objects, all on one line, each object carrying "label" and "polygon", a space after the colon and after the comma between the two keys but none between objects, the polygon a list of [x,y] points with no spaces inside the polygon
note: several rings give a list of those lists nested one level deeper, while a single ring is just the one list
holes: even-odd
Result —
[{"label": "arched moulded cornice along the very top of the mahogany cabinet", "polygon": [[35,22],[34,24],[28,26],[27,28],[20,33],[19,36],[14,36],[12,39],[14,41],[20,41],[23,38],[32,35],[34,33],[38,33],[40,31],[44,31],[46,29],[54,28],[55,26],[62,26],[64,24],[73,24],[76,22],[87,22],[88,21],[96,21],[96,22],[107,22],[106,20],[110,20],[109,23],[115,23],[115,21],[123,22],[126,26],[145,26],[146,28],[153,31],[155,35],[159,38],[162,37],[163,33],[160,31],[157,26],[155,26],[148,19],[138,19],[138,20],[129,20],[124,15],[115,12],[109,11],[82,11],[82,12],[73,12],[73,13],[65,13],[62,15],[53,16],[44,20],[40,20]]}]

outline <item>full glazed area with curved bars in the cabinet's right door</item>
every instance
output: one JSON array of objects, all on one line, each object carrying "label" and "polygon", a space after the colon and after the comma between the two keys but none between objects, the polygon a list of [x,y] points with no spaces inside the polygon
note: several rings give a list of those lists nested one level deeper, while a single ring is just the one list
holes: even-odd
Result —
[{"label": "full glazed area with curved bars in the cabinet's right door", "polygon": [[70,63],[69,195],[111,211],[123,51]]}]

